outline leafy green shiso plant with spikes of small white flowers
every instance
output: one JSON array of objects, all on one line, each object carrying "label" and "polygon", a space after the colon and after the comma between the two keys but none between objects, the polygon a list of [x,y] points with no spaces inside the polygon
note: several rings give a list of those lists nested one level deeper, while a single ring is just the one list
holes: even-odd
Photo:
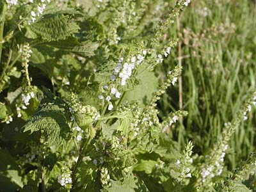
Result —
[{"label": "leafy green shiso plant with spikes of small white flowers", "polygon": [[168,134],[192,112],[159,117],[182,67],[156,67],[190,3],[0,1],[0,191],[255,190],[255,154],[233,171],[225,155],[256,90],[207,154]]}]

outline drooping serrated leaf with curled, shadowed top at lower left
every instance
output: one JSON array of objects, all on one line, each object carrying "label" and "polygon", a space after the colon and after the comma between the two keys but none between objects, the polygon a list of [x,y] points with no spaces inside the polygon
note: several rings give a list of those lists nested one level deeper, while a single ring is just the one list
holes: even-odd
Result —
[{"label": "drooping serrated leaf with curled, shadowed top at lower left", "polygon": [[40,131],[41,137],[52,150],[58,150],[61,146],[65,147],[71,137],[66,111],[58,100],[44,103],[24,126],[24,132]]}]

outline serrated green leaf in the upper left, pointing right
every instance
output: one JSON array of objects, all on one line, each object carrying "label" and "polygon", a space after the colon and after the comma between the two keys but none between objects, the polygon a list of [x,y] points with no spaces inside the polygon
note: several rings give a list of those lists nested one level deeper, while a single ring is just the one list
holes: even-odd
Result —
[{"label": "serrated green leaf in the upper left, pointing right", "polygon": [[26,31],[28,38],[40,38],[45,42],[65,40],[77,33],[79,26],[69,15],[60,13],[44,15],[42,19],[29,25]]}]

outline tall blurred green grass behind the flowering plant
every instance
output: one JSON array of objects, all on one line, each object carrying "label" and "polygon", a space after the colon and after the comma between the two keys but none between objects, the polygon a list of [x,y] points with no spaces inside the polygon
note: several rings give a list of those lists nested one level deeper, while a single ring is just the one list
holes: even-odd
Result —
[{"label": "tall blurred green grass behind the flowering plant", "polygon": [[[192,140],[196,153],[207,153],[225,122],[232,120],[255,88],[255,18],[252,0],[192,1],[180,16],[180,33],[170,34],[179,35],[182,42],[182,99],[183,109],[189,112],[182,124],[170,129],[180,146]],[[177,55],[173,51],[157,68],[159,76],[177,65]],[[179,109],[178,84],[163,95],[158,106],[159,116]],[[253,112],[231,140],[228,169],[255,150],[255,134]]]}]

